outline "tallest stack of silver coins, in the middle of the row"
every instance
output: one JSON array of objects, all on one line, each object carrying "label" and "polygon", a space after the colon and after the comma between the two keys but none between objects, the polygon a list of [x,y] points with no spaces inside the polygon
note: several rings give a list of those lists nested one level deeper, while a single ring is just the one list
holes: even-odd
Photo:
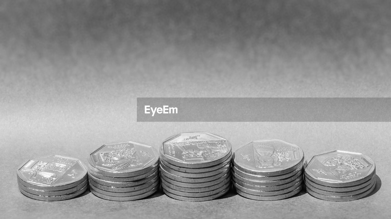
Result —
[{"label": "tallest stack of silver coins, in the middle of the row", "polygon": [[181,133],[160,148],[164,193],[183,201],[207,201],[231,188],[231,144],[207,132]]}]

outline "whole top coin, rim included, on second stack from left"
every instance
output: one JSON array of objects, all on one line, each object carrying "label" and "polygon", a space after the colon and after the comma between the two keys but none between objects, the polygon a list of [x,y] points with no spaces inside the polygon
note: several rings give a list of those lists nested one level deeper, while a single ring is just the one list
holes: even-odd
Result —
[{"label": "whole top coin, rim included, on second stack from left", "polygon": [[158,161],[156,149],[132,141],[103,145],[88,157],[91,169],[107,177],[143,175],[152,171]]}]

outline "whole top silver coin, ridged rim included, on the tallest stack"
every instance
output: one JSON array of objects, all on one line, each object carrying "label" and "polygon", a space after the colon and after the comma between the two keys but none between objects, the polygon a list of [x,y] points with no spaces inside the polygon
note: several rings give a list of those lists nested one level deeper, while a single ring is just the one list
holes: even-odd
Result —
[{"label": "whole top silver coin, ridged rim included, on the tallest stack", "polygon": [[164,141],[160,159],[185,168],[205,168],[231,156],[231,143],[208,132],[181,133]]}]

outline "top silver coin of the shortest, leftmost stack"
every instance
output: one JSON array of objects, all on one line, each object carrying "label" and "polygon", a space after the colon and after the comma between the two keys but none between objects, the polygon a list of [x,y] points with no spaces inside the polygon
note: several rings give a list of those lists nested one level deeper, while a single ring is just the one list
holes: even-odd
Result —
[{"label": "top silver coin of the shortest, leftmost stack", "polygon": [[20,183],[31,189],[59,191],[81,184],[87,168],[75,158],[50,155],[24,162],[17,171]]}]

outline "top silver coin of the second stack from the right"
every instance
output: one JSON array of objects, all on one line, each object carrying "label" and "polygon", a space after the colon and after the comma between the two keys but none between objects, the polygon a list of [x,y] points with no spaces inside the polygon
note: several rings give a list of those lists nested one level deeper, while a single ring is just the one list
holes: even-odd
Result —
[{"label": "top silver coin of the second stack from the right", "polygon": [[233,166],[258,176],[290,173],[303,166],[303,161],[300,147],[275,139],[252,141],[233,154]]}]

